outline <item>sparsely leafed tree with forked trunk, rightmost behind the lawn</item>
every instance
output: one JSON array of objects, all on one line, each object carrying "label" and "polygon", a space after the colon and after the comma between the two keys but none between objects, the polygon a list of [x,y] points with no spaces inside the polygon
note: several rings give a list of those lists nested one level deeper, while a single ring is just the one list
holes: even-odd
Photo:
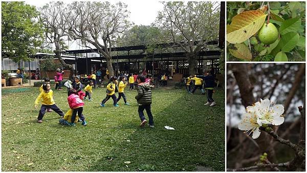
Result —
[{"label": "sparsely leafed tree with forked trunk, rightmost behind the lawn", "polygon": [[207,42],[218,38],[220,5],[216,2],[163,2],[156,24],[169,31],[165,40],[178,44],[188,57],[189,71],[196,73],[196,57]]}]

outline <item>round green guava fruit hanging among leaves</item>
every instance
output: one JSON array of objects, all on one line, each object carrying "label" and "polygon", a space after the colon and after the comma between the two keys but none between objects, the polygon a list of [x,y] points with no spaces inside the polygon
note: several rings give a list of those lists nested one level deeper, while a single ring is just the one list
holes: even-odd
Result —
[{"label": "round green guava fruit hanging among leaves", "polygon": [[265,45],[270,45],[278,38],[278,30],[274,24],[265,23],[258,32],[259,40]]}]

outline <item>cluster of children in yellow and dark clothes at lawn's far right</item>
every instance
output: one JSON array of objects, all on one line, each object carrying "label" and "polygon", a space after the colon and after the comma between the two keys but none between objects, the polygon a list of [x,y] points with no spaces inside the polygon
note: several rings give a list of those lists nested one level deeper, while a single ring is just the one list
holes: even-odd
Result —
[{"label": "cluster of children in yellow and dark clothes at lawn's far right", "polygon": [[[196,89],[200,89],[202,95],[207,93],[207,103],[204,105],[214,106],[216,105],[215,101],[212,98],[212,94],[214,92],[214,79],[215,75],[212,72],[206,72],[205,75],[190,75],[185,79],[185,87],[188,93],[194,94]],[[191,91],[191,82],[194,81],[194,87]],[[204,82],[204,87],[203,87]],[[206,92],[204,91],[204,88]]]}]

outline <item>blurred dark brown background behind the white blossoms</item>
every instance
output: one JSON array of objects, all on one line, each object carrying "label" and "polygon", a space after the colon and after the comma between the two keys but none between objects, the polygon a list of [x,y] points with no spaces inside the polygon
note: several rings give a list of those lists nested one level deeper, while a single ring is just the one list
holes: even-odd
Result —
[{"label": "blurred dark brown background behind the white blossoms", "polygon": [[268,154],[271,163],[294,158],[295,153],[290,147],[273,141],[266,133],[262,132],[254,140],[238,129],[245,107],[260,101],[260,98],[284,106],[285,122],[273,129],[280,137],[297,143],[300,129],[298,106],[303,106],[305,100],[305,64],[227,64],[227,168],[253,166],[264,153]]}]

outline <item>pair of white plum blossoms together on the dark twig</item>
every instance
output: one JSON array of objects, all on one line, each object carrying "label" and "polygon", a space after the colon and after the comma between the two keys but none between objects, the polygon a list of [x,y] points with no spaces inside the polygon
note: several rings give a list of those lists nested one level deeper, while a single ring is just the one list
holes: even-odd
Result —
[{"label": "pair of white plum blossoms together on the dark twig", "polygon": [[245,133],[249,132],[248,135],[253,133],[252,138],[257,139],[260,136],[259,127],[262,124],[280,125],[283,123],[283,112],[284,108],[281,104],[273,106],[269,99],[260,99],[260,102],[246,107],[246,113],[243,114],[238,128]]}]

